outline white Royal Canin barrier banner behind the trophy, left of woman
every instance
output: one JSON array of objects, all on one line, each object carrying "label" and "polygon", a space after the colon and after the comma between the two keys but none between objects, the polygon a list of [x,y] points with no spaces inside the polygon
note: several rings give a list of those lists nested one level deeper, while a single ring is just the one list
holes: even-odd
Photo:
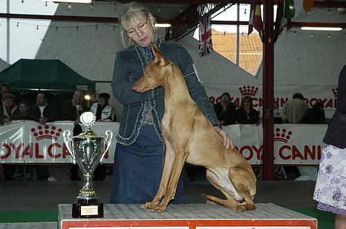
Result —
[{"label": "white Royal Canin barrier banner behind the trophy, left of woman", "polygon": [[[46,125],[35,121],[12,121],[0,126],[0,163],[72,163],[63,132],[70,130],[72,135],[73,126],[73,121],[55,121]],[[113,163],[118,123],[97,122],[91,129],[102,137],[107,137],[106,130],[113,132],[111,147],[103,160],[103,163]]]}]

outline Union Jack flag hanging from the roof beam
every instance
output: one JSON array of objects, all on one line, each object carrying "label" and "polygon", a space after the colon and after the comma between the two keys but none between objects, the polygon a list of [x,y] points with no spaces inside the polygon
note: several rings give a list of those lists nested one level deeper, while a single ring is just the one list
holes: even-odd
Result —
[{"label": "Union Jack flag hanging from the roof beam", "polygon": [[199,56],[203,57],[212,50],[211,16],[208,15],[199,21]]}]

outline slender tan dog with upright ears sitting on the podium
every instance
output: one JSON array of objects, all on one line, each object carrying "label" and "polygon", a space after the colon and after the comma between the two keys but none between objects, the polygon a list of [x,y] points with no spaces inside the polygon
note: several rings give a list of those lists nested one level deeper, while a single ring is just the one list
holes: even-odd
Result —
[{"label": "slender tan dog with upright ears sitting on the podium", "polygon": [[132,90],[143,93],[159,86],[165,88],[161,129],[166,155],[158,192],[152,202],[142,207],[152,212],[166,209],[174,199],[186,161],[206,167],[208,181],[227,198],[203,195],[208,203],[219,203],[238,212],[255,209],[256,177],[251,166],[236,149],[224,147],[223,137],[191,99],[181,70],[156,46],[151,47],[154,59]]}]

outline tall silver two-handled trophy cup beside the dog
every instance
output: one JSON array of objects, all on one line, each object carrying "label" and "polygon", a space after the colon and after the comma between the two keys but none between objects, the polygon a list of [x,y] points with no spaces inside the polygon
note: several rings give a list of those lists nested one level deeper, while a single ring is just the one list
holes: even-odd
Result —
[{"label": "tall silver two-handled trophy cup beside the dog", "polygon": [[[84,132],[78,136],[71,137],[70,130],[65,130],[63,132],[63,137],[66,148],[73,157],[73,163],[77,162],[80,170],[83,172],[84,186],[80,189],[77,201],[84,205],[90,205],[90,203],[95,203],[98,200],[98,196],[91,183],[93,172],[98,166],[98,163],[102,162],[109,146],[111,146],[113,132],[107,130],[105,132],[107,137],[96,135],[95,132],[90,129],[95,123],[95,115],[93,115],[92,112],[82,113],[82,115],[80,115],[80,121],[83,126],[86,126]],[[70,143],[72,144],[72,148],[70,148]],[[75,206],[73,206],[73,208],[75,208]],[[75,217],[82,216],[78,213]]]}]

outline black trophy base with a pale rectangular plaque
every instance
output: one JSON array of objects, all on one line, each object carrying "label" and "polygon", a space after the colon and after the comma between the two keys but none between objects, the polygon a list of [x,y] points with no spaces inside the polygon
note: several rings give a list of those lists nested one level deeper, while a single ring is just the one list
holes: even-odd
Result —
[{"label": "black trophy base with a pale rectangular plaque", "polygon": [[78,200],[72,204],[72,218],[102,218],[103,203],[97,200]]}]

